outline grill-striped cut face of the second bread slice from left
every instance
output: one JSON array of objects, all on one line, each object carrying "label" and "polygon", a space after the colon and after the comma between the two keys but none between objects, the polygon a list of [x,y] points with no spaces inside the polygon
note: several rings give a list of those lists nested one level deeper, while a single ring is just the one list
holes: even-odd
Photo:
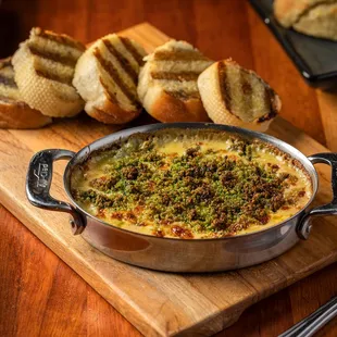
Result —
[{"label": "grill-striped cut face of the second bread slice from left", "polygon": [[33,28],[27,48],[40,77],[72,87],[75,65],[85,47],[66,35]]}]

